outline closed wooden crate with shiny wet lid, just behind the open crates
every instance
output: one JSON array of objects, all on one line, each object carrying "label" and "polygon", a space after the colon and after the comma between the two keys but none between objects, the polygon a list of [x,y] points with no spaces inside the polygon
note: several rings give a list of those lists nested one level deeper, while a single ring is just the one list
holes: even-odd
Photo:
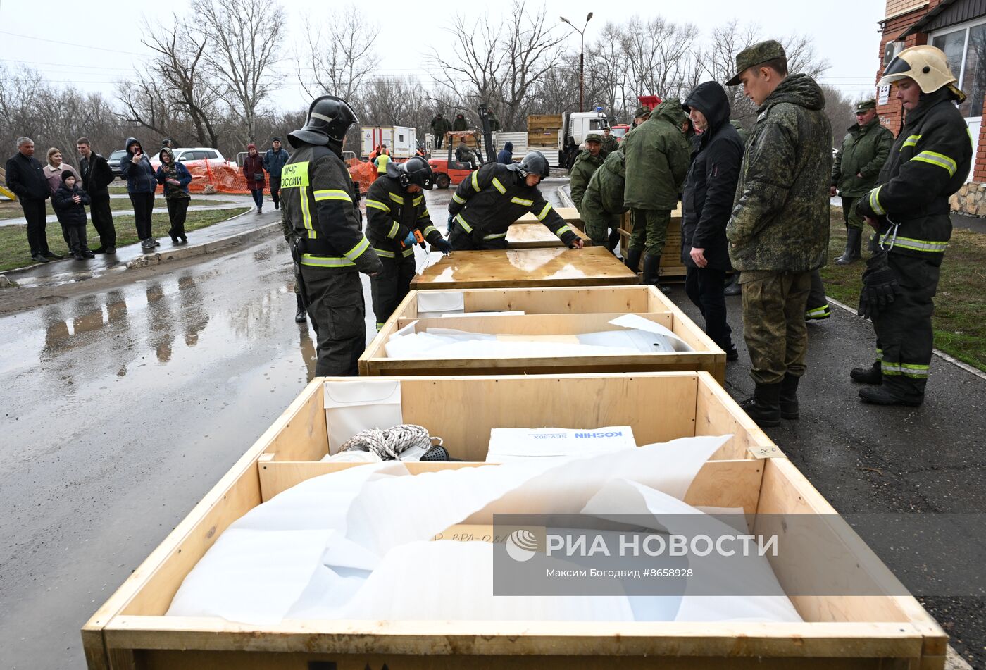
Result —
[{"label": "closed wooden crate with shiny wet lid, just behind the open crates", "polygon": [[602,247],[453,252],[411,280],[416,290],[635,284],[637,275]]}]

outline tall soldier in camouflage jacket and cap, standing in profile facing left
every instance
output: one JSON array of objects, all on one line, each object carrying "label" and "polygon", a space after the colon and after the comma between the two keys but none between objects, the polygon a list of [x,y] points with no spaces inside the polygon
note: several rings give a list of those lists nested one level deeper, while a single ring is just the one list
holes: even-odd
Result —
[{"label": "tall soldier in camouflage jacket and cap, standing in profile facing left", "polygon": [[727,82],[742,82],[759,106],[726,236],[741,271],[743,337],[756,384],[740,407],[761,426],[798,417],[811,271],[825,264],[828,249],[832,128],[818,85],[787,70],[784,48],[768,40],[740,51],[737,75]]}]

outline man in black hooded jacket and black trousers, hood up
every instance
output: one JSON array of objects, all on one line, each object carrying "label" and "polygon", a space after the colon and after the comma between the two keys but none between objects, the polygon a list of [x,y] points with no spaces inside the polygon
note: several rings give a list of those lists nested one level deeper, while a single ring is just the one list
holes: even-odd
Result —
[{"label": "man in black hooded jacket and black trousers, hood up", "polygon": [[699,84],[681,107],[699,133],[681,197],[684,289],[705,319],[706,335],[726,351],[727,360],[736,360],[723,284],[732,269],[726,224],[733,211],[743,144],[730,124],[729,97],[718,83]]}]

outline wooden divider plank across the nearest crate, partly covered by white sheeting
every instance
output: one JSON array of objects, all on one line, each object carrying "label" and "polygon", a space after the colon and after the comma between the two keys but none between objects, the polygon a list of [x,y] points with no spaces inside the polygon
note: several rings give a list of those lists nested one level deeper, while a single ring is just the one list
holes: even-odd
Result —
[{"label": "wooden divider plank across the nearest crate, partly covered by white sheeting", "polygon": [[[271,461],[260,464],[260,487],[263,502],[292,486],[315,477],[337,473],[360,463],[322,463]],[[478,468],[496,464],[470,463],[407,463],[412,475],[441,470]],[[756,513],[760,495],[760,479],[763,476],[761,461],[709,461],[696,475],[688,488],[684,501],[689,505],[708,507],[742,507],[746,514]]]}]

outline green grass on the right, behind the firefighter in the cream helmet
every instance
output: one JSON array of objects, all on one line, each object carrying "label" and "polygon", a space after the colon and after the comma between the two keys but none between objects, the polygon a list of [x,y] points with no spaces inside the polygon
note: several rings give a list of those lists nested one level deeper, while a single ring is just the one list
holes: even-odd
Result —
[{"label": "green grass on the right, behind the firefighter in the cream helmet", "polygon": [[[832,235],[828,247],[828,265],[821,269],[825,292],[850,307],[859,304],[864,261],[836,265],[833,261],[846,248],[846,229],[842,210],[832,209]],[[869,258],[866,241],[873,232],[864,233],[863,257]],[[958,360],[986,371],[986,236],[968,230],[954,230],[949,250],[942,263],[942,277],[935,296],[935,348]]]}]

